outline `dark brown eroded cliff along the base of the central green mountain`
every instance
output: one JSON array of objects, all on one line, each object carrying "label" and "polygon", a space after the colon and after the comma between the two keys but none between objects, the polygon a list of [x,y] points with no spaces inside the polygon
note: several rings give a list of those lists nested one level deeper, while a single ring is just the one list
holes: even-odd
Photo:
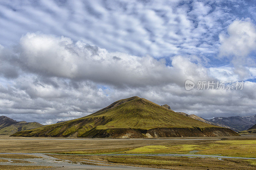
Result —
[{"label": "dark brown eroded cliff along the base of the central green mountain", "polygon": [[[15,136],[15,135],[13,135]],[[19,135],[24,137],[32,137],[29,135]],[[153,128],[149,130],[143,129],[96,129],[93,128],[81,136],[77,133],[66,137],[82,137],[82,138],[166,138],[166,137],[214,137],[214,136],[239,136],[235,131],[228,128],[209,127],[209,128]],[[64,137],[62,135],[46,135],[36,134],[33,137]]]}]

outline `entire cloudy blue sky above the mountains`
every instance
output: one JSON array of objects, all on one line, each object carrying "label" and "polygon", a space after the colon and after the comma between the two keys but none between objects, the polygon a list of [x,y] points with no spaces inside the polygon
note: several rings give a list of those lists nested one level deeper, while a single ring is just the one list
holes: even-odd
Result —
[{"label": "entire cloudy blue sky above the mountains", "polygon": [[2,0],[0,115],[52,124],[132,96],[204,118],[254,115],[255,11],[242,0]]}]

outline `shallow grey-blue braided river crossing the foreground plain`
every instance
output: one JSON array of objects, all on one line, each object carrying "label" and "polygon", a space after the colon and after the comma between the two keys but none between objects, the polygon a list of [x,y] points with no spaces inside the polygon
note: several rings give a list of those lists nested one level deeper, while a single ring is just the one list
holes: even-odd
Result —
[{"label": "shallow grey-blue braided river crossing the foreground plain", "polygon": [[[21,166],[53,166],[57,167],[54,169],[61,169],[61,170],[71,170],[71,169],[99,169],[99,170],[108,170],[108,169],[113,169],[113,170],[156,170],[157,168],[144,168],[144,167],[133,167],[133,166],[124,166],[124,165],[113,165],[113,164],[108,164],[103,161],[97,161],[97,160],[89,160],[89,159],[84,159],[84,161],[79,161],[79,162],[72,162],[70,160],[65,160],[65,159],[56,159],[51,156],[45,155],[45,153],[0,153],[0,154],[23,154],[23,155],[33,155],[33,156],[39,156],[43,158],[29,158],[29,159],[12,159],[12,158],[0,158],[0,159],[6,159],[9,160],[9,162],[0,162],[0,165],[21,165]],[[53,155],[58,155],[55,153],[51,154]],[[67,154],[68,155],[68,154]],[[71,155],[71,154],[70,154]],[[72,154],[74,155],[74,154]],[[80,154],[79,154],[80,155]],[[81,155],[88,155],[88,154],[81,154]],[[92,155],[92,154],[90,154]],[[95,154],[96,155],[96,154]],[[119,155],[129,155],[129,156],[186,156],[186,157],[211,157],[211,158],[217,158],[221,160],[222,158],[236,158],[236,159],[256,159],[256,158],[247,158],[247,157],[230,157],[230,156],[220,156],[220,155],[201,155],[201,154],[101,154],[101,155],[108,155],[108,156],[119,156]],[[26,160],[32,163],[26,164],[26,163],[12,163],[11,160]],[[81,162],[84,163],[96,163],[100,164],[102,166],[97,166],[97,165],[83,165]]]}]

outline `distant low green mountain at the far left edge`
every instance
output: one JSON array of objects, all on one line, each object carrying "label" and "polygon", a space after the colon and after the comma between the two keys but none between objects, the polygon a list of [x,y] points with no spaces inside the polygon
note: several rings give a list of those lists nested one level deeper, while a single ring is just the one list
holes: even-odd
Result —
[{"label": "distant low green mountain at the far left edge", "polygon": [[43,126],[37,122],[17,122],[6,116],[0,116],[0,135],[12,135],[18,131],[30,130]]}]

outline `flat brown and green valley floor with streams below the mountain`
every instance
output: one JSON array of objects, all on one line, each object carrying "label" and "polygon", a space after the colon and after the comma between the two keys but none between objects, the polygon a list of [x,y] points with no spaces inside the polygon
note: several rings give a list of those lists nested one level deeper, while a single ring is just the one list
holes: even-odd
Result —
[{"label": "flat brown and green valley floor with streams below the mountain", "polygon": [[0,136],[0,169],[256,169],[256,136],[147,139]]}]

